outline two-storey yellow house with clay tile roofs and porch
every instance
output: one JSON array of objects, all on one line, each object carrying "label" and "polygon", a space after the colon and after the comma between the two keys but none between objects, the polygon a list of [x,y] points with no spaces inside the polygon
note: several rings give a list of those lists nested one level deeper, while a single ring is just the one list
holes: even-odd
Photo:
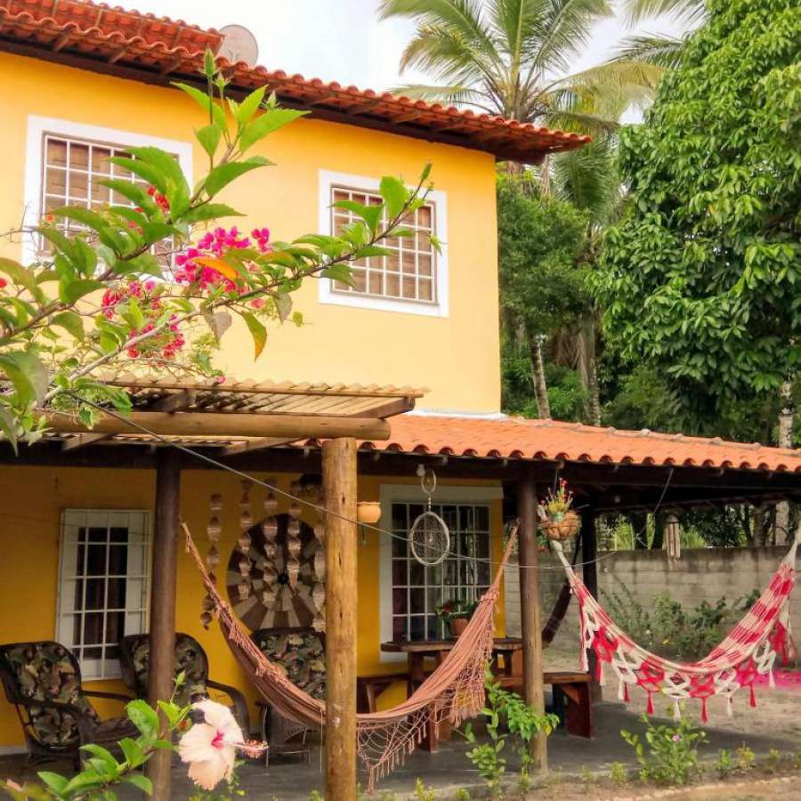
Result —
[{"label": "two-storey yellow house with clay tile roofs and porch", "polygon": [[[206,47],[221,44],[215,31],[79,0],[0,0],[0,230],[20,219],[36,223],[65,202],[108,202],[96,179],[108,174],[109,155],[132,145],[158,145],[197,177],[204,155],[191,132],[205,120],[170,82],[197,83]],[[797,451],[500,414],[496,162],[535,163],[587,137],[241,62],[226,74],[232,93],[269,85],[285,105],[310,112],[260,150],[276,166],[227,192],[224,200],[247,214],[248,230],[266,226],[276,239],[332,231],[339,222],[332,201],[365,202],[381,175],[413,181],[427,162],[435,190],[417,212],[415,238],[395,255],[355,265],[355,287],[307,281],[295,294],[305,325],[272,329],[261,359],[252,359],[247,332],[232,328],[219,356],[226,384],[121,376],[134,399],[132,420],[151,432],[161,425],[158,436],[111,424],[94,433],[54,429],[18,457],[0,442],[0,646],[58,641],[77,657],[87,687],[120,692],[122,637],[183,632],[206,651],[214,680],[247,695],[255,723],[245,672],[218,627],[201,622],[203,587],[176,545],[175,522],[180,512],[248,630],[320,627],[320,522],[284,493],[315,501],[327,469],[320,441],[324,449],[358,441],[358,487],[344,494],[381,510],[377,529],[355,531],[348,543],[356,578],[344,590],[358,599],[358,675],[402,672],[399,649],[446,635],[437,605],[474,600],[490,584],[516,500],[526,692],[538,705],[532,568],[540,488],[570,482],[590,591],[599,513],[801,499]],[[30,257],[17,241],[2,247],[4,255]],[[297,429],[259,435],[268,418],[271,425],[303,418],[303,438]],[[409,549],[409,528],[425,508],[421,466],[436,474],[433,509],[450,533],[448,558],[432,567]],[[277,490],[243,487],[248,477]],[[273,517],[281,530],[270,556],[264,538]],[[299,544],[289,541],[295,534]],[[498,634],[504,625],[501,603]],[[172,672],[172,653],[152,659],[154,673],[157,659]],[[392,684],[379,707],[405,690]],[[111,700],[97,708],[119,711]],[[24,749],[15,708],[0,700],[0,754]]]}]

